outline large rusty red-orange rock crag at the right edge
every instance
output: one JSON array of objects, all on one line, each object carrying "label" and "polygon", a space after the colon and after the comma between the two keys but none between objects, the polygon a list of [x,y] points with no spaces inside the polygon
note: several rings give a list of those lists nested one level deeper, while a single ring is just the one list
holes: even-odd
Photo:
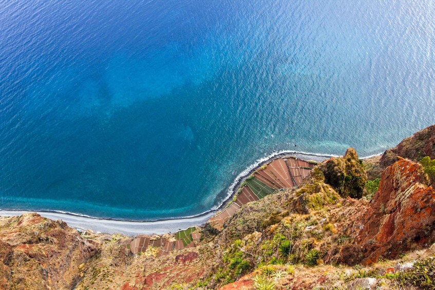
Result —
[{"label": "large rusty red-orange rock crag at the right edge", "polygon": [[370,264],[435,241],[435,190],[420,164],[399,158],[384,170],[362,223],[357,245],[342,249],[343,262]]}]

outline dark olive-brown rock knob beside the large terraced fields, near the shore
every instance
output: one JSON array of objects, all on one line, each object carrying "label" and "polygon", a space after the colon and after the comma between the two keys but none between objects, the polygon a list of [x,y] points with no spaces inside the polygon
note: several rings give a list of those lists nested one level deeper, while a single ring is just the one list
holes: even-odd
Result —
[{"label": "dark olive-brown rock knob beside the large terraced fields, near the shore", "polygon": [[349,148],[343,157],[333,157],[319,166],[330,184],[341,197],[361,198],[367,182],[367,173],[355,149]]}]

